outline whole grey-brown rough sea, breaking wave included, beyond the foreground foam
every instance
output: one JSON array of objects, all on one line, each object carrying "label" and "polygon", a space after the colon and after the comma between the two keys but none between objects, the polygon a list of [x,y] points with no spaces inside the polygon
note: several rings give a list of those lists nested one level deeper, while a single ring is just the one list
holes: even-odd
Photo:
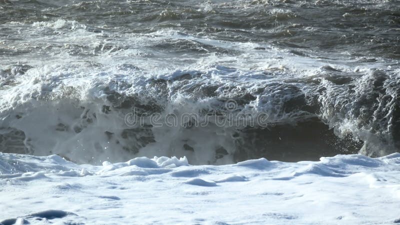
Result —
[{"label": "whole grey-brown rough sea, breaking wave included, beyond the foreground foam", "polygon": [[92,164],[398,151],[398,6],[0,0],[0,151]]}]

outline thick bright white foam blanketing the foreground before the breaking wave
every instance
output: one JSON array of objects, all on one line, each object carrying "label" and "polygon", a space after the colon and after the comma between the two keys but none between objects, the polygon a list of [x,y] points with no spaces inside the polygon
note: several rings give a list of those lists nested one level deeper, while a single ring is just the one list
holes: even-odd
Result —
[{"label": "thick bright white foam blanketing the foreground before the breaking wave", "polygon": [[400,219],[399,168],[399,153],[220,166],[175,157],[77,165],[0,153],[0,222],[390,224]]}]

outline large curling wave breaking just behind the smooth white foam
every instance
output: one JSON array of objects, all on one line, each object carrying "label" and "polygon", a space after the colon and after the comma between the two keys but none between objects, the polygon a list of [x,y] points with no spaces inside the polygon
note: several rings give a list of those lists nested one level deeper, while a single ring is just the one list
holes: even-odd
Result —
[{"label": "large curling wave breaking just behind the smooth white foam", "polygon": [[[133,65],[79,72],[67,65],[2,71],[8,86],[1,90],[1,151],[59,154],[79,163],[186,155],[193,163],[223,164],[358,151],[379,156],[399,146],[400,79],[390,70],[345,73],[325,66],[295,79],[283,78],[289,76],[284,71],[223,66],[158,77],[132,76]],[[267,125],[125,123],[132,112],[196,113],[203,120],[224,110],[228,100],[237,104],[235,113],[266,113]]]}]

